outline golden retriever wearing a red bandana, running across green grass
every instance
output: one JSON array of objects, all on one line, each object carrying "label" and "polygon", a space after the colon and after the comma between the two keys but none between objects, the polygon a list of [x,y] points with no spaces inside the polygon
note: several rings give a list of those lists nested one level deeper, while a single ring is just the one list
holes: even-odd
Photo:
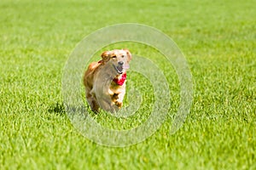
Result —
[{"label": "golden retriever wearing a red bandana, running across green grass", "polygon": [[128,49],[114,49],[103,52],[102,60],[88,66],[84,72],[84,86],[92,111],[98,112],[102,108],[114,112],[122,107],[130,60]]}]

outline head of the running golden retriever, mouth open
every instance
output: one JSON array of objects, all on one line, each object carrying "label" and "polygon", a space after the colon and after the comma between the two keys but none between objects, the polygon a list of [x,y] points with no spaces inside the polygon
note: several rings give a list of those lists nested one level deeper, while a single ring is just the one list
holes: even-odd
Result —
[{"label": "head of the running golden retriever, mouth open", "polygon": [[118,74],[123,74],[129,69],[130,60],[131,53],[128,49],[114,49],[102,53],[102,61],[104,63],[110,62]]}]

